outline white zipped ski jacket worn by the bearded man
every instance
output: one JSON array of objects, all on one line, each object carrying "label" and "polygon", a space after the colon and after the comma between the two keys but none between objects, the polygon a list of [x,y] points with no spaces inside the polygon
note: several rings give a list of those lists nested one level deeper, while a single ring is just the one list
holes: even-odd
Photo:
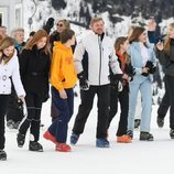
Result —
[{"label": "white zipped ski jacket worn by the bearded man", "polygon": [[85,52],[88,55],[88,69],[85,73],[88,76],[89,85],[101,86],[110,83],[109,64],[113,74],[122,74],[113,44],[108,36],[104,35],[101,40],[101,36],[89,31],[79,41],[74,53],[77,74],[84,70],[83,58]]}]

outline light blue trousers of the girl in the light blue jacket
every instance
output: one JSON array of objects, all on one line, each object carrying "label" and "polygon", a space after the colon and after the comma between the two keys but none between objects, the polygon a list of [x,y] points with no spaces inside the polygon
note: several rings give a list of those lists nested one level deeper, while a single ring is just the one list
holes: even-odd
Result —
[{"label": "light blue trousers of the girl in the light blue jacket", "polygon": [[152,83],[148,78],[140,78],[139,83],[130,83],[128,130],[133,131],[134,128],[134,113],[139,90],[142,98],[140,131],[149,132],[152,111]]}]

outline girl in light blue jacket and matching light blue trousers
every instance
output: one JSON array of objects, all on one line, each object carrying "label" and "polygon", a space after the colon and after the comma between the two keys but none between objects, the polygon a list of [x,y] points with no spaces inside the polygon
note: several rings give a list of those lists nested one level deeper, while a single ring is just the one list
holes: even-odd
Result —
[{"label": "girl in light blue jacket and matching light blue trousers", "polygon": [[146,31],[137,26],[129,37],[131,44],[129,54],[131,64],[135,68],[133,80],[130,81],[128,135],[133,138],[134,112],[137,97],[140,90],[142,98],[142,112],[140,126],[140,140],[153,141],[150,133],[151,110],[152,110],[152,74],[154,73],[155,54],[153,46],[146,44]]}]

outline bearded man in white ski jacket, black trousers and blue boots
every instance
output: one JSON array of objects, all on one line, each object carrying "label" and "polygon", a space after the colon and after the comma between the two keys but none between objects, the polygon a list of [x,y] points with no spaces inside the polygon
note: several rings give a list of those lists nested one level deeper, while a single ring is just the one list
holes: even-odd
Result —
[{"label": "bearded man in white ski jacket, black trousers and blue boots", "polygon": [[81,104],[75,119],[70,143],[76,144],[93,109],[94,97],[98,97],[98,122],[96,146],[109,148],[107,121],[109,115],[109,75],[122,75],[112,42],[106,36],[104,20],[94,18],[90,31],[77,44],[74,53],[75,66],[79,78]]}]

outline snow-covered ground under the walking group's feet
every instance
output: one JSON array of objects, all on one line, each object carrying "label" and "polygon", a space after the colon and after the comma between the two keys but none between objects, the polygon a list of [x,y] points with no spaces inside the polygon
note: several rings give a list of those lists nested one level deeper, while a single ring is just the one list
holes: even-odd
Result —
[{"label": "snow-covered ground under the walking group's feet", "polygon": [[[75,99],[75,115],[79,99]],[[96,104],[95,104],[96,106]],[[95,107],[96,108],[96,107]],[[154,142],[140,142],[139,131],[135,131],[135,139],[131,144],[120,144],[116,142],[115,119],[109,130],[110,149],[97,149],[95,146],[96,133],[96,112],[91,115],[86,124],[84,134],[80,137],[73,152],[61,153],[54,151],[54,144],[42,138],[51,122],[50,101],[43,107],[42,120],[45,127],[41,131],[41,143],[44,146],[43,153],[30,152],[28,150],[29,141],[23,149],[17,146],[17,132],[7,130],[7,152],[8,161],[0,162],[1,174],[172,174],[174,141],[168,137],[168,116],[163,129],[159,129],[155,122],[156,106],[152,113],[152,133]],[[69,133],[73,127],[75,116],[69,123]],[[28,135],[29,137],[29,135]],[[28,139],[26,139],[28,140]]]}]

